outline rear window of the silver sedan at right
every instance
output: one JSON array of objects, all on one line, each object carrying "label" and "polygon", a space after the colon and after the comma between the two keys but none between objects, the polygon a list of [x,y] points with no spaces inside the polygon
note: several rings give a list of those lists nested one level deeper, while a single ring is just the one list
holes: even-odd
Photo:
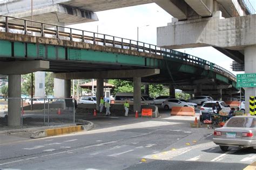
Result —
[{"label": "rear window of the silver sedan at right", "polygon": [[255,128],[256,119],[253,117],[233,117],[227,122],[226,127]]}]

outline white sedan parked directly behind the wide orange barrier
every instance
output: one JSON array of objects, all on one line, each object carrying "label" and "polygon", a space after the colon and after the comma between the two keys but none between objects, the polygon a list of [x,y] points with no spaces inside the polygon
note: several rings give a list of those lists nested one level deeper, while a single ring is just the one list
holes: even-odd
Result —
[{"label": "white sedan parked directly behind the wide orange barrier", "polygon": [[162,108],[165,110],[172,109],[172,107],[194,107],[197,108],[196,103],[190,103],[190,102],[184,102],[182,100],[172,98],[172,99],[167,99],[162,105]]}]

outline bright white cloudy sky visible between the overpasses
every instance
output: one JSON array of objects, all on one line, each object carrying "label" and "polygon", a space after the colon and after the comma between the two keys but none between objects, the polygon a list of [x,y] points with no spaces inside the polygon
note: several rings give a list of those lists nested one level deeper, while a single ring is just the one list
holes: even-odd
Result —
[{"label": "bright white cloudy sky visible between the overpasses", "polygon": [[[256,9],[256,0],[251,0],[251,3]],[[99,22],[78,24],[72,27],[93,32],[97,32],[98,27],[99,33],[133,40],[137,40],[137,27],[139,27],[139,41],[156,45],[157,27],[166,26],[172,18],[169,13],[154,3],[97,12],[97,15]],[[232,59],[212,47],[177,50],[198,56],[232,72],[230,68]],[[233,72],[233,74],[238,74],[238,72]]]}]

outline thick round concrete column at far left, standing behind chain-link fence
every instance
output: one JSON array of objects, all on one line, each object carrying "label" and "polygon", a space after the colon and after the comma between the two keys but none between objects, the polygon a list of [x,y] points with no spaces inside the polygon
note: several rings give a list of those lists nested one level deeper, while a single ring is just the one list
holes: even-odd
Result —
[{"label": "thick round concrete column at far left, standing behind chain-link fence", "polygon": [[21,75],[8,76],[8,97],[8,126],[21,126]]}]

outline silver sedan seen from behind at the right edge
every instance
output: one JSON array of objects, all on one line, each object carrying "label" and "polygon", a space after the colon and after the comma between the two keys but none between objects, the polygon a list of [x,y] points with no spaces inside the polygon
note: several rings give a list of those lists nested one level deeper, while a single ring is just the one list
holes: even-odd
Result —
[{"label": "silver sedan seen from behind at the right edge", "polygon": [[256,117],[234,116],[223,128],[215,129],[213,142],[227,151],[229,146],[253,147],[256,153]]}]

